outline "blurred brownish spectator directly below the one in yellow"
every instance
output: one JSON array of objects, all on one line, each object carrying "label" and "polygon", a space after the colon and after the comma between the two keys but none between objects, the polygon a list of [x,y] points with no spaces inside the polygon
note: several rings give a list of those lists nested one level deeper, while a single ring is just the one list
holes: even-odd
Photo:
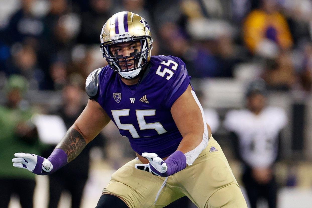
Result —
[{"label": "blurred brownish spectator directly below the one in yellow", "polygon": [[264,72],[269,89],[290,90],[297,81],[291,53],[281,52],[276,59],[266,60]]}]

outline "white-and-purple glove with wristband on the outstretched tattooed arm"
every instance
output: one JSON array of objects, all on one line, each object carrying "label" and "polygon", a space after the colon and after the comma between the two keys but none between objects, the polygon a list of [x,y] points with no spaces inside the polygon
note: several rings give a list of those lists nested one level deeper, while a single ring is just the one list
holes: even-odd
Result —
[{"label": "white-and-purple glove with wristband on the outstretched tattooed arm", "polygon": [[48,159],[35,154],[18,152],[12,159],[13,166],[24,168],[37,175],[48,175],[67,164],[67,154],[62,149],[54,149]]}]

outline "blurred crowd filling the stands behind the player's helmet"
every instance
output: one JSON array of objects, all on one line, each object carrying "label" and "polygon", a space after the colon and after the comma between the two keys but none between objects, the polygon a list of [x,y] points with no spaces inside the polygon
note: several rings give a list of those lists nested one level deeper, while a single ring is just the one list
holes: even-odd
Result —
[{"label": "blurred crowd filling the stands behind the player's helmet", "polygon": [[178,56],[192,77],[234,77],[256,63],[272,89],[311,90],[309,0],[2,1],[1,77],[20,74],[30,89],[59,90],[106,65],[99,52],[105,21],[119,11],[149,22],[152,54]]}]

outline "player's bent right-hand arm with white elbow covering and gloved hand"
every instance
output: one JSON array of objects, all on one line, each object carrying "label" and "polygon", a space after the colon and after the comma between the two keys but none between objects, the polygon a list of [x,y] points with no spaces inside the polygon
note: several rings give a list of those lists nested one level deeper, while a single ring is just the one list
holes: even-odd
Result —
[{"label": "player's bent right-hand arm with white elbow covering and gloved hand", "polygon": [[[155,153],[144,152],[142,156],[149,160],[149,164],[136,164],[136,168],[167,177],[183,170],[187,165],[192,165],[200,152],[207,146],[208,135],[211,135],[211,131],[205,122],[202,107],[190,85],[173,103],[171,114],[183,136],[177,151],[173,152],[165,161]],[[149,168],[147,169],[147,167]]]}]

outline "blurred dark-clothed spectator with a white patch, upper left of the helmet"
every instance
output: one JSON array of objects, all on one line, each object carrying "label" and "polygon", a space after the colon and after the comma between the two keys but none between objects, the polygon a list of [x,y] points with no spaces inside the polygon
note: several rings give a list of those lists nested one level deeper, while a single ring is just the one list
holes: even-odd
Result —
[{"label": "blurred dark-clothed spectator with a white patch, upper left of the helmet", "polygon": [[70,13],[66,0],[51,0],[50,12],[44,17],[44,40],[41,43],[39,64],[47,75],[50,75],[50,65],[61,61],[68,64],[71,61],[71,49],[80,28],[80,18]]}]

